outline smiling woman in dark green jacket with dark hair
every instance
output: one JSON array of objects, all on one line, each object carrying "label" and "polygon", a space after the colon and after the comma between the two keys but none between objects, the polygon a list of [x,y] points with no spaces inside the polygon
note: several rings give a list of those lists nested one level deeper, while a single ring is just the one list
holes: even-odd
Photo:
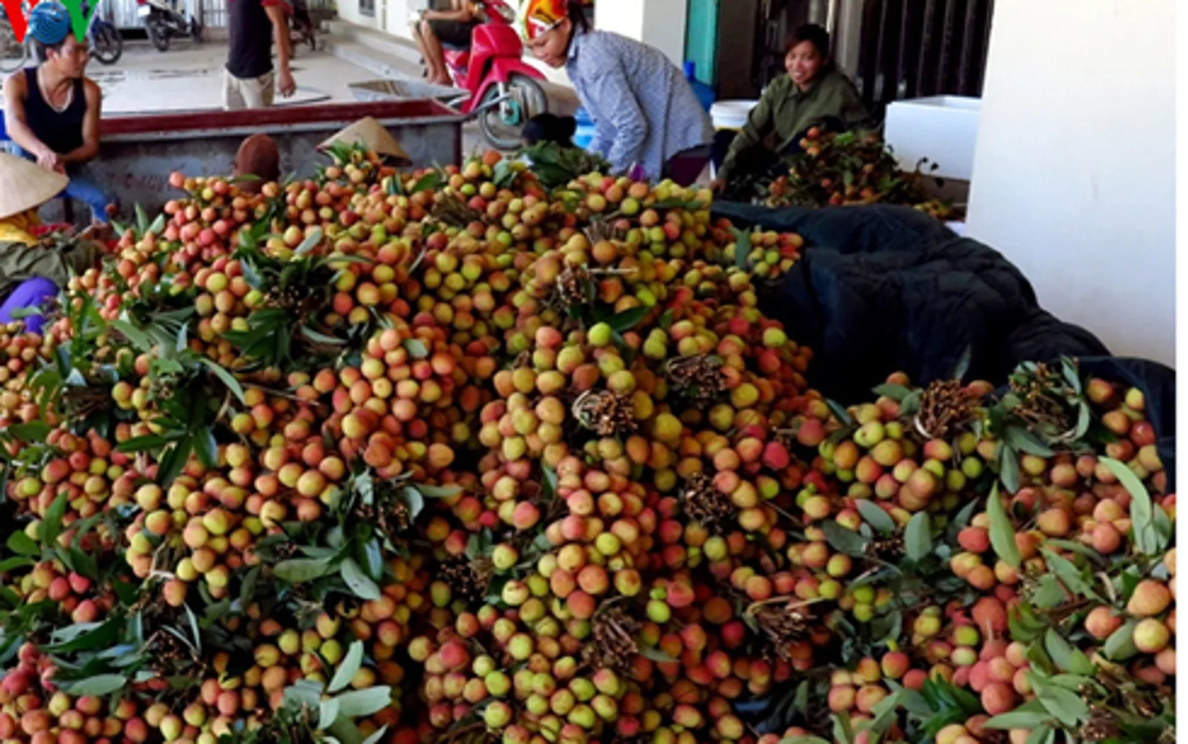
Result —
[{"label": "smiling woman in dark green jacket with dark hair", "polygon": [[746,125],[734,137],[718,168],[715,190],[745,174],[764,174],[783,156],[796,152],[814,126],[855,130],[868,115],[854,83],[829,58],[829,33],[821,26],[801,26],[784,56],[788,75],[773,80]]}]

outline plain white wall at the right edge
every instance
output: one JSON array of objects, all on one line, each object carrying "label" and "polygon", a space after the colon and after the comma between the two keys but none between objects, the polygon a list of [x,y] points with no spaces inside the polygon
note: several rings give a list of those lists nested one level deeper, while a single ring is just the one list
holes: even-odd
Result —
[{"label": "plain white wall at the right edge", "polygon": [[1175,364],[1175,0],[998,0],[968,233],[1043,308]]}]

